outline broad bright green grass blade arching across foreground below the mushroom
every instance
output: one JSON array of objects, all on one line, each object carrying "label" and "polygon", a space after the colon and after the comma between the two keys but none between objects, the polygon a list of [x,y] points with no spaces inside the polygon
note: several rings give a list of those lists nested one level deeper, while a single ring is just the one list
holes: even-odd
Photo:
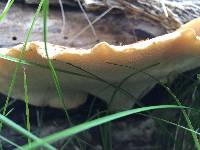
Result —
[{"label": "broad bright green grass blade arching across foreground below the mushroom", "polygon": [[50,136],[47,136],[46,138],[43,138],[42,141],[38,141],[38,142],[34,142],[31,145],[25,145],[23,148],[24,150],[29,150],[29,149],[35,149],[39,146],[42,146],[44,143],[43,142],[47,142],[47,143],[52,143],[55,141],[58,141],[60,139],[72,136],[74,134],[77,134],[79,132],[88,130],[92,127],[128,116],[128,115],[132,115],[132,114],[136,114],[139,112],[145,112],[145,111],[149,111],[149,110],[155,110],[155,109],[183,109],[183,108],[187,108],[187,107],[183,107],[183,106],[177,106],[177,105],[160,105],[160,106],[148,106],[148,107],[143,107],[143,108],[137,108],[137,109],[131,109],[131,110],[127,110],[127,111],[123,111],[123,112],[119,112],[119,113],[115,113],[112,115],[107,115],[105,117],[101,117],[89,122],[85,122],[79,125],[76,125],[74,127],[71,127],[69,129],[60,131],[58,133],[52,134]]}]

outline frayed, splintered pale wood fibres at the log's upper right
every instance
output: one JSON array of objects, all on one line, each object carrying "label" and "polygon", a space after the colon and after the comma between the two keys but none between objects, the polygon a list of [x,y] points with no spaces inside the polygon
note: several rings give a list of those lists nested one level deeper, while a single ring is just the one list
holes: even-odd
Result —
[{"label": "frayed, splintered pale wood fibres at the log's upper right", "polygon": [[[26,0],[27,3],[38,3]],[[75,1],[64,0],[63,3]],[[50,0],[50,3],[58,1]],[[88,11],[104,11],[105,8],[117,8],[132,13],[134,17],[160,23],[169,33],[179,28],[181,24],[188,22],[200,15],[199,1],[180,0],[82,0],[83,6]]]}]

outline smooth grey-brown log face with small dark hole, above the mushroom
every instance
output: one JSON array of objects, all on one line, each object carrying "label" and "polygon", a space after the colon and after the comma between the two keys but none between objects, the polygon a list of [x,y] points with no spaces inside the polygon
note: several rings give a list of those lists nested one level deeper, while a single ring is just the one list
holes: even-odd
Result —
[{"label": "smooth grey-brown log face with small dark hole, above the mushroom", "polygon": [[[5,5],[1,4],[2,2],[0,2],[0,10],[3,10]],[[8,13],[0,24],[0,47],[10,47],[24,41],[35,8],[34,6],[14,3],[10,12],[13,13]],[[104,15],[93,12],[89,12],[87,15],[93,22],[96,36],[93,35],[81,10],[77,9],[65,8],[66,23],[63,32],[61,32],[63,21],[60,9],[51,7],[48,19],[48,41],[63,46],[90,48],[99,41],[107,41],[115,45],[129,44],[150,38],[149,35],[154,37],[165,33],[164,29],[158,28],[157,24],[151,25],[142,20],[137,21],[131,17],[132,15],[128,17],[125,14],[111,14],[110,11]],[[42,18],[39,17],[30,41],[43,40],[42,26]],[[143,31],[144,29],[145,31]]]}]

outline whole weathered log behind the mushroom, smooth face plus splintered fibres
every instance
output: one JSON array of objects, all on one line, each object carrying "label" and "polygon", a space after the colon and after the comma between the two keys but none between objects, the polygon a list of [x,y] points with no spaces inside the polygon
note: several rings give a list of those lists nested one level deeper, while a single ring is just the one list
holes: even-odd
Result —
[{"label": "whole weathered log behind the mushroom, smooth face plus splintered fibres", "polygon": [[[74,3],[75,1],[62,0],[62,2],[64,4],[65,2]],[[102,1],[87,2],[100,3]],[[60,9],[51,7],[48,19],[48,41],[58,45],[81,48],[90,48],[99,41],[107,41],[114,45],[125,45],[171,32],[181,24],[200,15],[198,1],[189,3],[165,0],[164,4],[166,10],[168,10],[168,16],[164,13],[161,3],[157,1],[106,2],[105,9],[87,11],[96,35],[93,34],[81,9],[77,9],[78,3],[75,2],[76,6],[73,7],[77,8],[74,10],[68,9],[68,7],[64,8],[65,26],[63,26]],[[152,6],[150,3],[152,3]],[[157,5],[153,5],[154,3]],[[84,5],[83,1],[82,4]],[[0,10],[3,10],[4,6],[5,2],[0,2]],[[116,10],[121,10],[121,13],[116,14]],[[35,6],[16,2],[10,11],[13,13],[8,13],[0,24],[0,47],[9,47],[24,41],[32,16],[35,13]],[[39,18],[30,41],[43,40],[41,32],[42,18]]]}]

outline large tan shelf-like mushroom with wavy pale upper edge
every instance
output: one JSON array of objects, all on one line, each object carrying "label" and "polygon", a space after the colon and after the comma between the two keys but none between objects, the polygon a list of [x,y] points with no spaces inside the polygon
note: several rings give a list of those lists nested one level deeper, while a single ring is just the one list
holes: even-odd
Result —
[{"label": "large tan shelf-like mushroom with wavy pale upper edge", "polygon": [[[166,76],[173,71],[185,72],[199,67],[199,26],[200,18],[183,25],[173,33],[124,46],[114,46],[101,42],[86,50],[47,43],[49,58],[55,68],[83,75],[78,76],[57,71],[67,107],[78,107],[86,101],[88,94],[109,103],[118,84],[134,72],[135,75],[130,77],[121,86],[121,89],[131,93],[137,99],[157,83],[146,73],[158,80],[165,80]],[[22,46],[23,44],[13,48],[3,48],[0,50],[0,54],[19,58]],[[47,65],[44,43],[29,42],[24,59]],[[153,64],[157,65],[146,69],[145,73],[138,72],[138,70]],[[24,67],[28,79],[30,104],[62,108],[51,79],[50,70],[38,66],[24,65]],[[6,94],[8,83],[15,69],[15,62],[1,58],[0,69],[0,91]],[[98,76],[98,79],[86,71]],[[113,110],[130,108],[135,103],[136,99],[127,95],[123,90],[119,90],[115,95],[111,105]],[[23,67],[17,74],[12,97],[24,99]]]}]

